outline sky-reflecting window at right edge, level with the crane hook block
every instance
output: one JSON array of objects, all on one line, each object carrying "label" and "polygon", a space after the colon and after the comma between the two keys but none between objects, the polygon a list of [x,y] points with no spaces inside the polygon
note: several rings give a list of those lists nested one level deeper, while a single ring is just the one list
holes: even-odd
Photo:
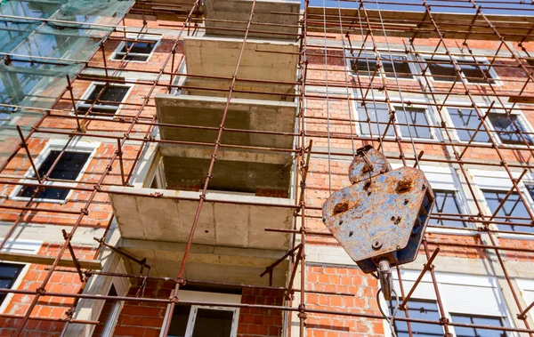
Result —
[{"label": "sky-reflecting window at right edge, level with the crane hook block", "polygon": [[[497,211],[498,205],[505,199],[507,191],[499,190],[482,190],[484,198],[490,207],[491,213]],[[506,199],[505,204],[499,209],[498,216],[509,216],[509,217],[520,217],[520,218],[529,218],[529,213],[525,205],[522,203],[521,198],[516,192],[513,192],[510,197]],[[497,221],[506,221],[510,222],[509,225],[498,224],[497,227],[500,230],[511,230],[517,232],[534,232],[534,228],[530,226],[517,226],[514,223],[525,223],[530,224],[530,221],[527,220],[515,220],[515,219],[506,219],[498,218]]]}]

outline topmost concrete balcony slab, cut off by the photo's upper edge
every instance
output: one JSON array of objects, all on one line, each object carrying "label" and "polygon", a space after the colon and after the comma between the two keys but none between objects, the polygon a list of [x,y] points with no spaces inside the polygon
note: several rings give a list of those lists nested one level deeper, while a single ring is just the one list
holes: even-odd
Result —
[{"label": "topmost concrete balcony slab, cut off by the photo's upper edge", "polygon": [[[250,0],[205,0],[206,34],[244,36],[252,3]],[[248,36],[296,40],[299,16],[295,14],[299,12],[300,2],[298,1],[256,1]],[[269,33],[259,31],[269,31]]]}]

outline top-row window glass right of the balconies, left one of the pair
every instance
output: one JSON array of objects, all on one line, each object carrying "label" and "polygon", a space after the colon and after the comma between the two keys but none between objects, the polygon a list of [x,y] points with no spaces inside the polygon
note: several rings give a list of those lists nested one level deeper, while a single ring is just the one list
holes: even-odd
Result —
[{"label": "top-row window glass right of the balconies, left one of the pair", "polygon": [[[358,72],[358,75],[372,76],[376,68],[376,59],[374,55],[360,55],[365,59],[352,60],[351,67],[353,72]],[[384,66],[384,72],[386,77],[395,77],[395,73],[398,78],[414,78],[409,69],[409,63],[405,56],[399,55],[381,55],[380,60]],[[376,74],[379,76],[379,74]]]}]

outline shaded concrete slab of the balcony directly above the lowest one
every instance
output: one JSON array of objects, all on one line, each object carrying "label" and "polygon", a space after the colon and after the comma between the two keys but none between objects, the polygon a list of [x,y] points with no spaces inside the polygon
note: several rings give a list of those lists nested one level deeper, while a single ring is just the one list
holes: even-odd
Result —
[{"label": "shaded concrete slab of the balcony directly above the lowest one", "polygon": [[[156,107],[158,122],[213,127],[215,130],[198,130],[161,126],[162,140],[186,140],[214,143],[218,127],[223,120],[226,99],[190,95],[158,95]],[[265,132],[294,132],[296,103],[270,100],[232,99],[224,126]],[[255,147],[292,148],[294,137],[269,133],[223,132],[222,143]]]}]

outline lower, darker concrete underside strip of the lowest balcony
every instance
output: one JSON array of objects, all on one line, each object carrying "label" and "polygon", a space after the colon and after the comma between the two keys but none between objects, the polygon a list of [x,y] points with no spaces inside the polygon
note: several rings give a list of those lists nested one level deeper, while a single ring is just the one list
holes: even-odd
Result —
[{"label": "lower, darker concrete underside strip of the lowest balcony", "polygon": [[[120,248],[139,258],[146,258],[150,276],[176,277],[180,271],[185,244],[139,239],[121,240]],[[213,245],[191,245],[184,278],[204,282],[269,285],[269,276],[260,277],[265,267],[285,252]],[[138,273],[139,265],[127,261],[129,272]],[[284,286],[287,261],[273,269],[272,285]]]}]

